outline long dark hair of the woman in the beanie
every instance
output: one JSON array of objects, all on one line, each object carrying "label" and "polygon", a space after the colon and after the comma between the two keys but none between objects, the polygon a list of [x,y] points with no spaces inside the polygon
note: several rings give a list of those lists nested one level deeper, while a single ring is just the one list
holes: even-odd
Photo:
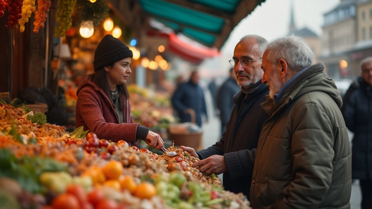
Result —
[{"label": "long dark hair of the woman in the beanie", "polygon": [[[113,67],[115,63],[109,65],[110,67]],[[107,80],[107,74],[108,72],[105,69],[100,69],[95,71],[93,74],[90,75],[90,79],[97,84],[98,87],[103,89],[105,91],[106,95],[109,97],[112,106],[115,108],[115,105],[111,99],[111,94],[110,94],[110,87],[109,87],[109,82]],[[122,98],[122,94],[125,95],[127,99],[129,99],[129,92],[128,89],[126,88],[125,84],[117,85],[116,88],[118,89],[119,93],[119,107],[120,109],[124,109],[124,102]]]}]

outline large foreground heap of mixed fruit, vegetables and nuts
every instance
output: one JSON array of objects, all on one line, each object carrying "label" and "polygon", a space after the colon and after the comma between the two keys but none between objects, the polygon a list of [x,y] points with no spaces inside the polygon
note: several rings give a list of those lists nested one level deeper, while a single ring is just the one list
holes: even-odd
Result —
[{"label": "large foreground heap of mixed fruit, vegetables and nuts", "polygon": [[[8,208],[250,208],[243,194],[176,156],[45,123],[40,113],[0,103],[0,201]],[[31,121],[33,120],[33,121]]]}]

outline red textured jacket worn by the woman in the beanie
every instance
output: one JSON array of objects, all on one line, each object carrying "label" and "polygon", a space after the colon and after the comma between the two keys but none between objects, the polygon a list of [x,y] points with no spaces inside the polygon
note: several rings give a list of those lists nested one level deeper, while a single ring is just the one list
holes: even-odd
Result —
[{"label": "red textured jacket worn by the woman in the beanie", "polygon": [[139,123],[133,123],[131,106],[124,94],[124,123],[120,124],[109,97],[89,77],[77,89],[76,94],[76,127],[84,126],[84,131],[89,129],[100,139],[114,142],[125,140],[132,146],[137,145],[136,132]]}]

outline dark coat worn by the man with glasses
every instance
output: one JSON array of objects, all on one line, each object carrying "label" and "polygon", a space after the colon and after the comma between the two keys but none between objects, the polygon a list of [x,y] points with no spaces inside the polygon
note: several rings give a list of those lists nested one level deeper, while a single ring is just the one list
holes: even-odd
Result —
[{"label": "dark coat worn by the man with glasses", "polygon": [[248,93],[247,97],[243,91],[237,93],[234,96],[235,107],[220,141],[197,152],[200,159],[224,155],[227,165],[227,172],[223,177],[225,189],[235,193],[243,192],[247,197],[260,131],[265,120],[269,118],[260,106],[266,101],[265,96],[268,93],[269,89],[262,83]]}]

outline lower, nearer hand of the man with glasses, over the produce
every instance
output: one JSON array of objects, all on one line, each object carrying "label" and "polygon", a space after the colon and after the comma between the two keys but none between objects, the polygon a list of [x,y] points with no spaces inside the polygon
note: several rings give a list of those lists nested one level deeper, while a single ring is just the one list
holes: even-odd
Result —
[{"label": "lower, nearer hand of the man with glasses, over the produce", "polygon": [[215,173],[217,175],[227,171],[224,155],[212,155],[209,158],[198,161],[192,164],[192,167],[202,166],[200,172],[205,172],[208,175]]}]

